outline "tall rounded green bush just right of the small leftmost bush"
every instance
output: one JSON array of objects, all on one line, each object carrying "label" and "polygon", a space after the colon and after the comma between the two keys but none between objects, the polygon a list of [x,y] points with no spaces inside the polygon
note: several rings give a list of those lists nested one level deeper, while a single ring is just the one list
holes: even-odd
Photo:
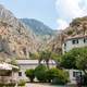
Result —
[{"label": "tall rounded green bush just right of the small leftmost bush", "polygon": [[46,72],[47,72],[47,66],[40,64],[35,69],[35,76],[37,77],[38,80],[46,82],[47,80]]}]

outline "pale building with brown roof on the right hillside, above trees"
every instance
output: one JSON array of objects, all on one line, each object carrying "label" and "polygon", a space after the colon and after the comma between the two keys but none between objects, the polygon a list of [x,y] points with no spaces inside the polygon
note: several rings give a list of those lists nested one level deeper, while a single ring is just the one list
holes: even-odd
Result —
[{"label": "pale building with brown roof on the right hillside, above trees", "polygon": [[77,35],[74,37],[69,37],[64,40],[62,45],[62,52],[69,52],[73,48],[87,47],[87,35]]}]

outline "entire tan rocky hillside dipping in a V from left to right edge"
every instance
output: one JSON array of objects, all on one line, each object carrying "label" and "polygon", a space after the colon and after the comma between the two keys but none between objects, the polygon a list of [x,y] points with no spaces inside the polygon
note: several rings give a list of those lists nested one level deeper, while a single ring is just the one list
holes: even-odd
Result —
[{"label": "entire tan rocky hillside dipping in a V from left to right edge", "polygon": [[45,42],[38,41],[36,35],[13,13],[0,4],[0,60],[29,59],[29,52],[50,49],[61,53],[65,38],[87,34],[87,16],[75,18],[67,28]]}]

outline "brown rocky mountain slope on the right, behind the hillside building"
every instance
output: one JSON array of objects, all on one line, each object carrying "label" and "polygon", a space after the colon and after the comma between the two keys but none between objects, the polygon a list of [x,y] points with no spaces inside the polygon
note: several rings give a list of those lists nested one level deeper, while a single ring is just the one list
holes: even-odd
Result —
[{"label": "brown rocky mountain slope on the right, behind the hillside building", "polygon": [[74,18],[69,27],[49,41],[47,47],[60,54],[62,53],[62,44],[66,38],[83,35],[87,35],[87,16]]}]

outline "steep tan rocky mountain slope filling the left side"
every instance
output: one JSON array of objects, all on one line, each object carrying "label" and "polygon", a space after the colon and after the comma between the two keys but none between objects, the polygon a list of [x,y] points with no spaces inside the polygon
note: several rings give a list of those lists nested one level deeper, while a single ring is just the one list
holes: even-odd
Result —
[{"label": "steep tan rocky mountain slope filling the left side", "polygon": [[35,34],[0,4],[0,59],[28,59],[38,46]]}]

